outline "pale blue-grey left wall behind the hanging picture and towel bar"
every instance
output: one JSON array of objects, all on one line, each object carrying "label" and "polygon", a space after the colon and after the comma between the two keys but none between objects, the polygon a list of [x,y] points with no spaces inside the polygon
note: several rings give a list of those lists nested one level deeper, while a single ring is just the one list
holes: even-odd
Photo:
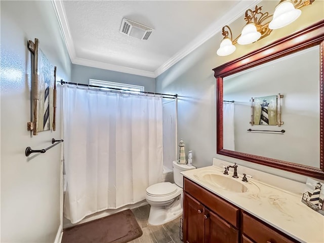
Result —
[{"label": "pale blue-grey left wall behind the hanging picture and towel bar", "polygon": [[[27,146],[43,149],[61,138],[57,131],[32,136],[31,53],[39,45],[57,66],[57,79],[70,80],[67,55],[51,1],[1,1],[1,242],[54,242],[60,226],[61,144],[26,157]],[[59,96],[60,97],[60,96]],[[58,99],[60,107],[60,99]]]}]

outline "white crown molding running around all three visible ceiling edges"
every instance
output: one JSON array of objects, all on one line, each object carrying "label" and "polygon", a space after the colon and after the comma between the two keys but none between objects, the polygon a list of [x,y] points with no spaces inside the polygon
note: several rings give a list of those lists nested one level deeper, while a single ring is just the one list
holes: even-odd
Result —
[{"label": "white crown molding running around all three visible ceiling edges", "polygon": [[[71,62],[73,64],[108,69],[117,72],[125,72],[135,75],[147,76],[147,77],[157,77],[161,73],[168,70],[182,58],[193,52],[196,48],[204,44],[208,39],[213,37],[215,34],[221,31],[222,26],[226,24],[230,24],[238,17],[244,15],[246,9],[253,8],[256,4],[261,2],[261,0],[255,0],[253,3],[250,1],[241,0],[234,8],[232,8],[226,15],[224,15],[220,20],[214,22],[210,25],[208,29],[206,29],[203,33],[199,34],[191,43],[189,43],[186,47],[176,53],[172,58],[170,58],[163,65],[158,67],[154,72],[135,69],[125,66],[119,66],[111,63],[99,62],[85,58],[79,58],[76,56],[75,47],[73,44],[73,39],[69,30],[69,26],[66,20],[65,10],[61,0],[52,0],[52,4],[58,18],[60,29],[64,38],[64,42],[70,56]],[[220,27],[221,26],[221,27]]]}]

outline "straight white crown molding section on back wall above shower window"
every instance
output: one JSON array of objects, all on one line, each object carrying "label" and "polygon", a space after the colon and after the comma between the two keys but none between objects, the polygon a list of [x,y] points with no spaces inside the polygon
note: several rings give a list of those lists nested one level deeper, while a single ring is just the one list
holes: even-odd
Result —
[{"label": "straight white crown molding section on back wall above shower window", "polygon": [[125,73],[155,78],[154,72],[131,68],[131,67],[119,66],[111,63],[106,63],[106,62],[93,61],[85,58],[75,57],[72,63],[83,65],[83,66],[108,69],[116,72],[125,72]]}]

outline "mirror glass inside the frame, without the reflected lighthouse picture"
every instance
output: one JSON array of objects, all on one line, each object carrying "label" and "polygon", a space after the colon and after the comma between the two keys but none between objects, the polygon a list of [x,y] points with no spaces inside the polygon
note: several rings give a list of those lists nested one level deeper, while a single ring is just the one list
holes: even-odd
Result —
[{"label": "mirror glass inside the frame, without the reflected lighthouse picture", "polygon": [[[319,168],[319,53],[317,45],[224,77],[223,148]],[[251,97],[278,93],[284,124],[252,127]]]}]

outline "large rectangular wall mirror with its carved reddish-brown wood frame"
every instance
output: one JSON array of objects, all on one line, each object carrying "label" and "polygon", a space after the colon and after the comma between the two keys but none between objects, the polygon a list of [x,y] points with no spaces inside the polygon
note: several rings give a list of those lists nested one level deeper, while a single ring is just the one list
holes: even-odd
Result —
[{"label": "large rectangular wall mirror with its carved reddish-brown wood frame", "polygon": [[[213,69],[218,154],[324,179],[323,39],[321,20]],[[259,125],[263,111],[273,126]]]}]

